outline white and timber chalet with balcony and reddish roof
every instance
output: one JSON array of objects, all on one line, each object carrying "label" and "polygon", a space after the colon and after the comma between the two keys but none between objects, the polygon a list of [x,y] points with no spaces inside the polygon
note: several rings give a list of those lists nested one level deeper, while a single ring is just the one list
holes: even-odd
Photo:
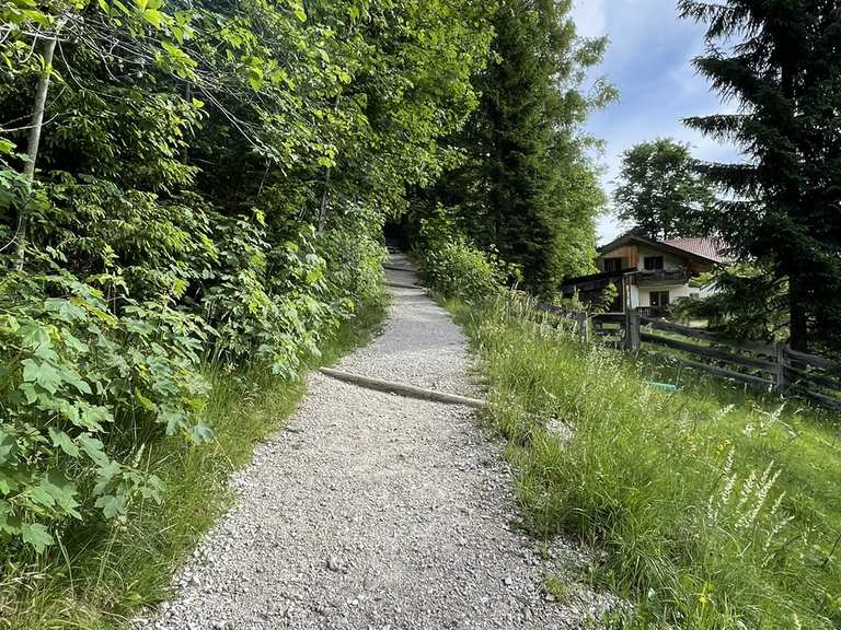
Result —
[{"label": "white and timber chalet with balcony and reddish roof", "polygon": [[716,265],[727,264],[722,246],[711,238],[653,241],[625,234],[599,248],[598,273],[573,278],[561,288],[565,296],[578,294],[583,302],[603,300],[608,285],[617,289],[612,313],[636,310],[660,317],[679,300],[704,298],[714,288],[693,282]]}]

